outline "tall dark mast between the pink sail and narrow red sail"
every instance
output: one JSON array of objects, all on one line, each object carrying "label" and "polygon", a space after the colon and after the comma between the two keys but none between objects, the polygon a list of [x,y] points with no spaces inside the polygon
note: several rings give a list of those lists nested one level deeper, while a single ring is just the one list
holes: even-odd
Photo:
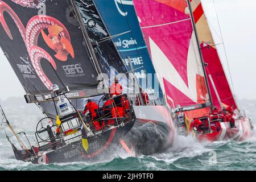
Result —
[{"label": "tall dark mast between the pink sail and narrow red sail", "polygon": [[212,95],[210,94],[210,87],[209,87],[209,82],[207,79],[207,73],[205,71],[205,62],[204,62],[204,58],[203,58],[203,53],[201,52],[201,47],[200,47],[200,42],[199,42],[199,36],[197,34],[197,30],[196,30],[196,23],[195,23],[195,19],[193,16],[193,11],[192,11],[192,7],[191,7],[191,3],[190,0],[187,0],[188,2],[188,7],[189,7],[189,13],[191,15],[191,22],[192,22],[192,26],[193,29],[195,30],[195,36],[196,36],[196,43],[197,43],[197,48],[199,49],[199,54],[200,54],[200,60],[203,66],[203,71],[204,71],[204,78],[205,78],[205,83],[207,85],[207,91],[208,91],[208,95],[209,95],[209,100],[210,100],[210,109],[213,109],[213,101],[212,101]]}]

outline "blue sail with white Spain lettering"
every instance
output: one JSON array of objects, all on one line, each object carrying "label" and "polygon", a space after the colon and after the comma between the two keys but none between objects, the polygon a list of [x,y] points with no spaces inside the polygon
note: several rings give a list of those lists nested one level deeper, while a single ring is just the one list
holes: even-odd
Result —
[{"label": "blue sail with white Spain lettering", "polygon": [[138,80],[146,80],[146,73],[154,74],[155,70],[143,39],[133,1],[94,2],[126,66],[130,67],[127,59],[129,56]]}]

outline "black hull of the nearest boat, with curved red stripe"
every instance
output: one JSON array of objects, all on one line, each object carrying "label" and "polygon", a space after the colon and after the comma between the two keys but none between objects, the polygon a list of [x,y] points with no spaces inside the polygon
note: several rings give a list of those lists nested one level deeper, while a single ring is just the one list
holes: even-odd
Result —
[{"label": "black hull of the nearest boat, with curved red stripe", "polygon": [[[134,121],[135,122],[135,121]],[[93,162],[101,160],[105,156],[113,154],[115,146],[133,127],[134,122],[127,123],[125,126],[115,127],[94,137],[88,138],[89,148],[86,152],[82,147],[81,138],[49,152],[41,152],[40,156],[34,160],[34,164],[67,163],[67,162]]]}]

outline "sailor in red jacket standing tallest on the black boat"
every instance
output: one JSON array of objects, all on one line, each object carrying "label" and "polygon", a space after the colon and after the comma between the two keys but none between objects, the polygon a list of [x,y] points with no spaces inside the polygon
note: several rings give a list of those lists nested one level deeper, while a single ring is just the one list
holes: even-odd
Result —
[{"label": "sailor in red jacket standing tallest on the black boat", "polygon": [[110,96],[114,100],[114,115],[116,117],[123,117],[123,107],[122,107],[122,85],[119,84],[118,77],[115,77],[115,82],[110,86]]}]

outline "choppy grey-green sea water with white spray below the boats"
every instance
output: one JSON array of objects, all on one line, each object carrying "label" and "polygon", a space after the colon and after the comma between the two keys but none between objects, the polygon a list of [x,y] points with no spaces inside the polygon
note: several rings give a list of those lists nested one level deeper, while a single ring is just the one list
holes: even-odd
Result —
[{"label": "choppy grey-green sea water with white spray below the boats", "polygon": [[[0,170],[255,170],[256,137],[244,142],[199,143],[192,137],[178,136],[174,146],[163,154],[130,157],[118,154],[96,163],[34,165],[14,158],[0,127]],[[119,152],[118,152],[119,153]],[[214,158],[216,156],[216,160]]]}]

